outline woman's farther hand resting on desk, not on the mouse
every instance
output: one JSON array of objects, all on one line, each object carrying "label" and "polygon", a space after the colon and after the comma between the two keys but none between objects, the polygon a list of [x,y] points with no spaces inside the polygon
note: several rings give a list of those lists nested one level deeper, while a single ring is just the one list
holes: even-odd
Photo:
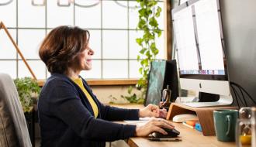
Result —
[{"label": "woman's farther hand resting on desk, not on the mouse", "polygon": [[139,117],[156,117],[156,118],[166,118],[168,112],[166,109],[160,109],[157,105],[148,104],[147,107],[140,109]]}]

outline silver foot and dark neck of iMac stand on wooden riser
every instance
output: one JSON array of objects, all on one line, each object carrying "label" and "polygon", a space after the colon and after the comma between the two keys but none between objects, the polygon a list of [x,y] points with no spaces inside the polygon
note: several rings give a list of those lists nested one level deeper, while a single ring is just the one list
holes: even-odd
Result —
[{"label": "silver foot and dark neck of iMac stand on wooden riser", "polygon": [[[215,107],[215,106],[225,106],[230,105],[233,102],[233,98],[230,95],[218,95],[218,94],[207,94],[207,93],[199,93],[199,97],[179,97],[182,100],[180,101],[182,104],[185,104],[190,107],[202,108],[202,107]],[[190,99],[190,101],[185,100],[186,98]],[[178,101],[177,101],[178,102]]]}]

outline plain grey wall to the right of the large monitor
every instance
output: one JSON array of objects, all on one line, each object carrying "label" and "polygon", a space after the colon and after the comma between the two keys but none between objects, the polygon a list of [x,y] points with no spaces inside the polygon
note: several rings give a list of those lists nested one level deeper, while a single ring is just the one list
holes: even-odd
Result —
[{"label": "plain grey wall to the right of the large monitor", "polygon": [[[230,81],[256,101],[256,1],[220,0]],[[234,97],[234,94],[233,94]],[[253,102],[245,97],[248,105]],[[237,105],[236,102],[234,105]]]}]

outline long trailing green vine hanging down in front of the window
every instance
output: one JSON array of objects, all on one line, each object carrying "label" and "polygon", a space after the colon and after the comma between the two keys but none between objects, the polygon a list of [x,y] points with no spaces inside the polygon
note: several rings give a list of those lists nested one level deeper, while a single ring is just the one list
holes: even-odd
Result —
[{"label": "long trailing green vine hanging down in front of the window", "polygon": [[158,27],[157,17],[161,14],[161,7],[157,6],[157,0],[137,0],[140,4],[139,22],[137,30],[143,30],[144,34],[136,39],[140,45],[140,53],[137,55],[137,60],[140,62],[139,72],[142,75],[138,80],[137,87],[141,88],[142,96],[147,90],[147,75],[150,71],[150,63],[156,59],[157,46],[155,43],[156,37],[161,36],[161,29]]}]

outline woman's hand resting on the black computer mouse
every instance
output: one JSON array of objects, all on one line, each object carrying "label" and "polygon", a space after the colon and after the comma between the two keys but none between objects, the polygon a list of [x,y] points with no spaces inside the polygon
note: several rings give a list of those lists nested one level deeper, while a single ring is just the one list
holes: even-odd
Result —
[{"label": "woman's hand resting on the black computer mouse", "polygon": [[147,121],[144,125],[137,125],[135,136],[145,137],[150,135],[152,132],[160,132],[164,135],[167,135],[167,132],[163,128],[175,128],[174,125],[171,125],[171,122],[162,119],[162,118],[153,118],[150,121]]}]

